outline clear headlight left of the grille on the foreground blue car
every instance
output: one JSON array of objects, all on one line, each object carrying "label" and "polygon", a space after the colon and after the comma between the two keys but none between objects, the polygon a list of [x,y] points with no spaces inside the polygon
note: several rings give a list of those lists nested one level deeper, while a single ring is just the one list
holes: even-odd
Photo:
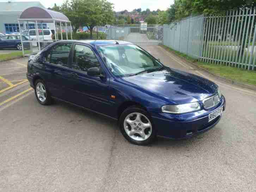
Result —
[{"label": "clear headlight left of the grille on the foreground blue car", "polygon": [[200,110],[199,103],[187,103],[181,105],[165,105],[162,107],[162,111],[165,113],[188,113],[192,111]]}]

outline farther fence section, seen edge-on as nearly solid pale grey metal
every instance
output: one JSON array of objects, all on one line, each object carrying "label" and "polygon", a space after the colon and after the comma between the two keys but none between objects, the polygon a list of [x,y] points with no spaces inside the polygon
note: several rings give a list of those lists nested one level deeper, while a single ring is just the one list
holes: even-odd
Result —
[{"label": "farther fence section, seen edge-on as nearly solid pale grey metal", "polygon": [[163,44],[193,58],[201,56],[203,15],[164,25]]}]

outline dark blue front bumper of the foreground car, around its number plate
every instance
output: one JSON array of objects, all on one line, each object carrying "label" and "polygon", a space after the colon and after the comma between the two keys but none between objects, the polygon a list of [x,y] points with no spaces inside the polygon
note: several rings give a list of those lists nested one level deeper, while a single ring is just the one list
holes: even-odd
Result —
[{"label": "dark blue front bumper of the foreground car, around its number plate", "polygon": [[220,103],[210,110],[202,110],[194,113],[173,115],[158,113],[152,115],[154,126],[157,128],[157,135],[166,138],[189,138],[212,129],[220,121],[221,116],[211,122],[208,115],[223,106],[226,110],[226,100],[223,96]]}]

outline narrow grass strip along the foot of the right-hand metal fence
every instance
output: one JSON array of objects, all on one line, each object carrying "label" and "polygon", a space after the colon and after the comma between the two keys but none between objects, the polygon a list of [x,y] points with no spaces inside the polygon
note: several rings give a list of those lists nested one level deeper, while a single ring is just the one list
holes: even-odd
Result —
[{"label": "narrow grass strip along the foot of the right-hand metal fence", "polygon": [[256,85],[256,71],[248,71],[243,68],[236,68],[236,67],[231,67],[231,66],[225,66],[223,64],[209,64],[209,63],[203,63],[199,62],[198,60],[195,60],[194,58],[191,58],[185,54],[182,54],[179,51],[175,51],[169,47],[162,46],[166,50],[172,52],[173,54],[183,57],[195,64],[197,66],[206,69],[210,73],[213,73],[217,76],[230,79],[233,81],[239,81],[243,83],[247,83],[249,85]]}]

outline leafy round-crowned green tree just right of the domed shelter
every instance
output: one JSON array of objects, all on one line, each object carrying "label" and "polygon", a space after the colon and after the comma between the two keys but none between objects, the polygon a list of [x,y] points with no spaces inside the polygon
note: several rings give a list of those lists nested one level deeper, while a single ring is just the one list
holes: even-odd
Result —
[{"label": "leafy round-crowned green tree just right of the domed shelter", "polygon": [[114,20],[113,4],[106,0],[70,0],[61,6],[64,13],[77,31],[79,26],[87,26],[91,32],[97,25],[112,23]]}]

